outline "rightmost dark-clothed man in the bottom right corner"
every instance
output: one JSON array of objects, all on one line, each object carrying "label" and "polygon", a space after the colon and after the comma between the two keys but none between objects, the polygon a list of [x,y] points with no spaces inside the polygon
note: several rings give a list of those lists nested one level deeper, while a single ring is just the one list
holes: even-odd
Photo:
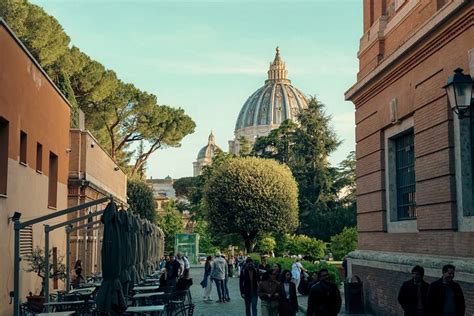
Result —
[{"label": "rightmost dark-clothed man in the bottom right corner", "polygon": [[459,283],[454,282],[456,268],[452,264],[443,267],[443,276],[428,288],[428,315],[464,316],[466,303]]}]

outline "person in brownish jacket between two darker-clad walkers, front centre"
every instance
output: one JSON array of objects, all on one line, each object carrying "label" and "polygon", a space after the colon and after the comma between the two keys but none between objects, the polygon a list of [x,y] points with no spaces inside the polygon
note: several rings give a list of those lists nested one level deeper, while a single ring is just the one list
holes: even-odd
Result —
[{"label": "person in brownish jacket between two darker-clad walkers, front centre", "polygon": [[258,297],[260,297],[260,306],[262,316],[277,316],[278,301],[280,299],[280,282],[277,281],[277,274],[272,270],[265,272],[262,281],[258,284]]}]

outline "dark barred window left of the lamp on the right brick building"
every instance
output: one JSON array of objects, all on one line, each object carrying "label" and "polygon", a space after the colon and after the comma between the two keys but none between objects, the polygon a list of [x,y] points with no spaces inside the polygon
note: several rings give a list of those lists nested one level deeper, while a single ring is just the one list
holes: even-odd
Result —
[{"label": "dark barred window left of the lamp on the right brick building", "polygon": [[415,146],[413,132],[394,139],[398,220],[416,218]]}]

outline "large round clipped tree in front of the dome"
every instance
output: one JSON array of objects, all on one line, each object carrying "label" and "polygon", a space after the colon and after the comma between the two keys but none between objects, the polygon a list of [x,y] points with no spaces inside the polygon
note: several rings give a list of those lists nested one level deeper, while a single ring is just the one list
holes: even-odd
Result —
[{"label": "large round clipped tree in front of the dome", "polygon": [[274,160],[234,158],[218,166],[204,189],[210,229],[238,233],[252,252],[260,233],[298,226],[298,188],[290,169]]}]

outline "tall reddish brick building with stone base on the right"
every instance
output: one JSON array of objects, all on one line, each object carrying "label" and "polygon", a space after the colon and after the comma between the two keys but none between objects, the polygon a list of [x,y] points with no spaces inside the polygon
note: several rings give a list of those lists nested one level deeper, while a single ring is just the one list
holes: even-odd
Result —
[{"label": "tall reddish brick building with stone base on the right", "polygon": [[364,0],[360,67],[346,92],[359,230],[350,273],[377,315],[402,314],[398,290],[415,264],[433,281],[446,263],[474,315],[474,115],[453,113],[443,88],[458,67],[474,74],[473,48],[471,0]]}]

